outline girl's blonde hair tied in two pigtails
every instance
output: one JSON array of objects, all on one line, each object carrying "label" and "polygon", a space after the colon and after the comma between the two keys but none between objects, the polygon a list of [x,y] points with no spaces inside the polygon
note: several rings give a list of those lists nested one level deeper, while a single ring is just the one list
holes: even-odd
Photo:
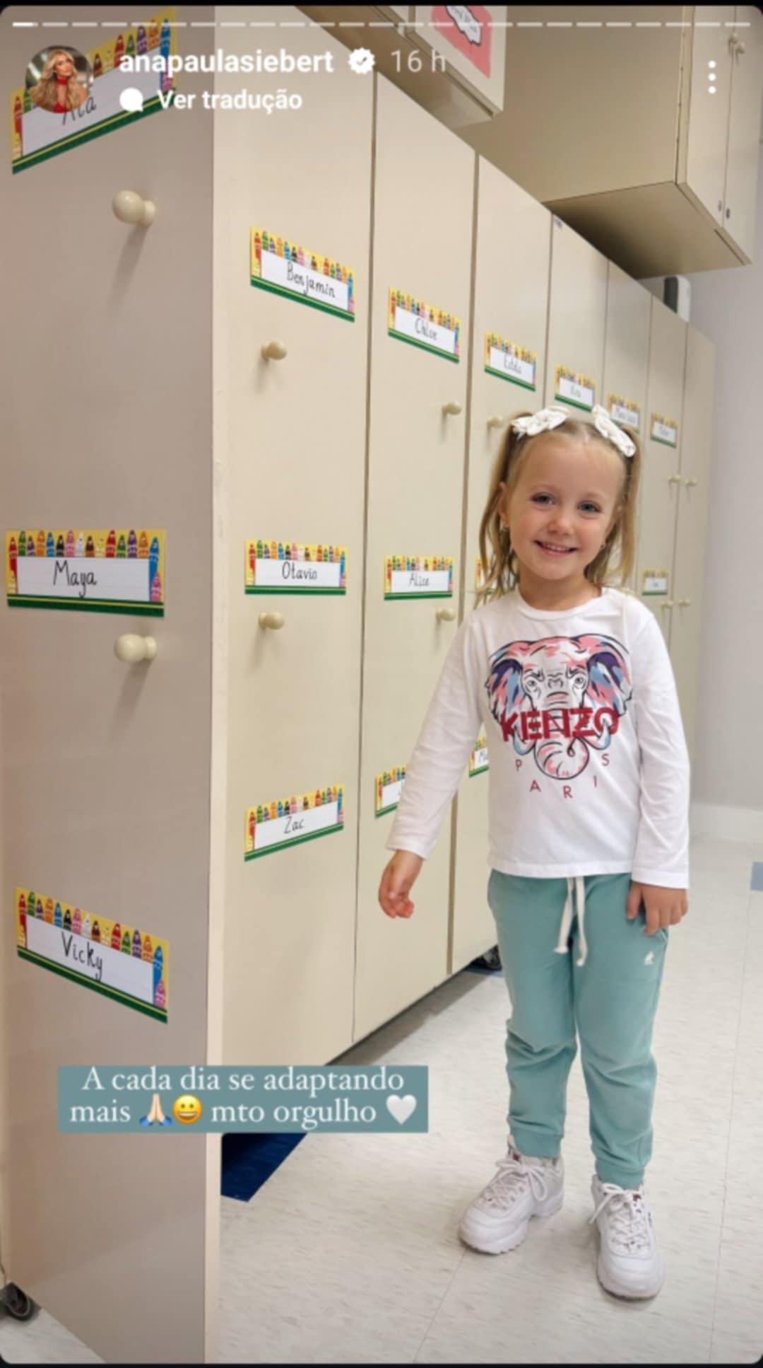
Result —
[{"label": "girl's blonde hair tied in two pigtails", "polygon": [[[488,499],[480,523],[483,584],[476,592],[474,607],[480,607],[488,598],[500,598],[503,594],[509,594],[517,587],[520,580],[517,557],[511,550],[511,536],[509,528],[500,525],[498,505],[500,503],[500,484],[506,486],[506,503],[509,503],[536,443],[548,436],[548,431],[539,432],[537,436],[522,436],[514,431],[511,427],[514,419],[529,416],[528,409],[521,409],[511,415],[509,427],[500,442],[500,449],[492,464]],[[577,442],[599,442],[613,458],[619,461],[624,479],[613,513],[615,521],[602,550],[591,561],[591,565],[585,566],[585,579],[591,584],[610,584],[614,580],[615,588],[625,588],[636,560],[636,510],[639,480],[641,477],[641,443],[636,432],[628,428],[628,436],[633,440],[636,451],[630,457],[622,456],[611,442],[607,442],[600,435],[592,423],[585,423],[572,413],[551,431],[554,436],[567,436]]]}]

